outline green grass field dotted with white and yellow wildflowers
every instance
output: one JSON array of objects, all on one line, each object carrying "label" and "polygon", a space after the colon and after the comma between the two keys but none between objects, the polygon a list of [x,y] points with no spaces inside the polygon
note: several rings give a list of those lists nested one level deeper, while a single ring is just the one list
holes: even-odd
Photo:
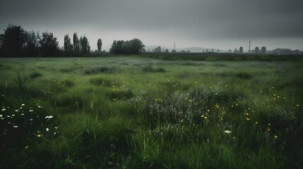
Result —
[{"label": "green grass field dotted with white and yellow wildflowers", "polygon": [[303,168],[302,56],[0,61],[0,168]]}]

